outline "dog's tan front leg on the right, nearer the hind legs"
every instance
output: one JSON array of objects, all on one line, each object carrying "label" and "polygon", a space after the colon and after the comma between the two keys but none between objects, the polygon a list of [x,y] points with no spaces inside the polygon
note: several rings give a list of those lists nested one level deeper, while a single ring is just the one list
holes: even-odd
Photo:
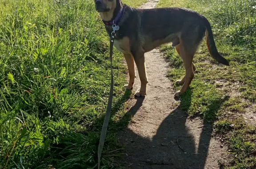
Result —
[{"label": "dog's tan front leg on the right, nearer the hind legs", "polygon": [[134,55],[134,60],[140,76],[140,91],[136,92],[135,96],[144,97],[146,95],[148,77],[146,72],[145,57],[144,53]]}]

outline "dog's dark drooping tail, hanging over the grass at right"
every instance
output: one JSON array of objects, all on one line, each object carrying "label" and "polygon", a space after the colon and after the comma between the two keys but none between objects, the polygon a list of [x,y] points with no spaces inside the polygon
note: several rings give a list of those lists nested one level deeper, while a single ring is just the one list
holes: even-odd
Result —
[{"label": "dog's dark drooping tail, hanging over the grass at right", "polygon": [[204,24],[205,24],[205,27],[206,27],[206,31],[205,31],[206,44],[207,44],[207,47],[208,47],[208,50],[209,50],[211,56],[217,62],[229,66],[228,60],[225,59],[224,57],[222,57],[220,55],[220,53],[218,52],[217,48],[216,48],[216,45],[215,45],[215,42],[214,42],[214,39],[213,39],[213,34],[212,34],[212,27],[211,27],[211,24],[209,23],[209,21],[206,18],[204,18]]}]

